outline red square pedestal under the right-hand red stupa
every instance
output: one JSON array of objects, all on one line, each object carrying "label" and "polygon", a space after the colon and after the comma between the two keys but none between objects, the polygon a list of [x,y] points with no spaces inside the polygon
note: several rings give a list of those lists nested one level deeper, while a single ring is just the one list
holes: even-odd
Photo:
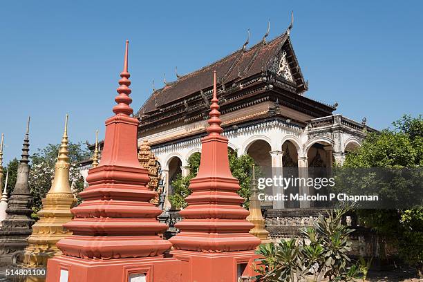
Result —
[{"label": "red square pedestal under the right-hand red stupa", "polygon": [[171,254],[181,261],[183,282],[236,282],[241,276],[255,275],[251,267],[256,257],[254,251],[203,253],[173,250]]}]

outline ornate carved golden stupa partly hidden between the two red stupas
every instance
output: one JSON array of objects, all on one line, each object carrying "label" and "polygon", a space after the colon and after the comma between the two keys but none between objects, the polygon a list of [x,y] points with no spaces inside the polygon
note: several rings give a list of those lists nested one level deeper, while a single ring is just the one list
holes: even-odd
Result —
[{"label": "ornate carved golden stupa partly hidden between the two red stupas", "polygon": [[157,162],[156,156],[154,156],[154,153],[151,151],[148,140],[143,140],[140,151],[138,152],[138,160],[140,161],[141,167],[149,171],[150,182],[147,187],[157,192],[156,197],[151,199],[151,203],[158,205],[158,197],[162,193],[162,191],[159,191],[158,185],[160,180],[160,176],[158,175],[160,165]]}]

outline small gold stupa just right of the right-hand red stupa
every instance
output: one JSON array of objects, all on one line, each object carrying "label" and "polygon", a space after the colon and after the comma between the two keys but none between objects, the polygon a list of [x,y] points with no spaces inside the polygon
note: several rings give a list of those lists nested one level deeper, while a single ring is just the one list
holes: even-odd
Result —
[{"label": "small gold stupa just right of the right-hand red stupa", "polygon": [[259,200],[259,189],[256,184],[256,167],[253,164],[252,167],[252,189],[250,195],[250,215],[247,216],[247,220],[254,224],[254,227],[250,229],[250,234],[261,239],[261,243],[270,243],[269,232],[265,229],[265,219],[261,214],[260,200]]}]

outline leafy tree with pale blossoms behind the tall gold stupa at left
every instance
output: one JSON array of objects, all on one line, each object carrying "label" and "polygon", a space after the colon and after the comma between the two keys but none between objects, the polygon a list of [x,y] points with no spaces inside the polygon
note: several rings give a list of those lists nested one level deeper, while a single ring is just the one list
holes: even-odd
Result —
[{"label": "leafy tree with pale blossoms behind the tall gold stupa at left", "polygon": [[[41,200],[46,196],[55,176],[55,164],[57,162],[59,147],[60,144],[48,144],[45,148],[38,149],[37,152],[30,156],[31,169],[29,185],[31,194],[34,197],[34,203],[32,204],[34,213],[32,217],[35,219],[37,219],[37,212],[42,207]],[[79,175],[76,164],[81,160],[89,158],[90,152],[88,149],[84,149],[81,142],[70,142],[68,144],[68,151],[69,162],[71,164],[69,180],[73,193],[77,195],[77,193],[84,189],[84,180]]]}]

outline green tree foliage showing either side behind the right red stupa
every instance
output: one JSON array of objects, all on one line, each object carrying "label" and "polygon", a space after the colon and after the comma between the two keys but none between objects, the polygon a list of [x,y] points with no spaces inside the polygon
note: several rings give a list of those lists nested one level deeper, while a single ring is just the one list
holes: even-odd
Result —
[{"label": "green tree foliage showing either side behind the right red stupa", "polygon": [[[236,151],[228,149],[229,168],[231,169],[232,176],[239,180],[241,189],[238,194],[245,199],[244,207],[248,207],[250,197],[250,171],[253,158],[247,154],[239,156]],[[191,194],[189,190],[189,181],[197,175],[198,168],[200,167],[200,153],[194,153],[188,158],[189,175],[182,177],[180,174],[172,181],[173,195],[169,196],[169,201],[173,207],[177,209],[187,206],[185,198]],[[256,166],[256,175],[261,175],[259,166]]]}]

